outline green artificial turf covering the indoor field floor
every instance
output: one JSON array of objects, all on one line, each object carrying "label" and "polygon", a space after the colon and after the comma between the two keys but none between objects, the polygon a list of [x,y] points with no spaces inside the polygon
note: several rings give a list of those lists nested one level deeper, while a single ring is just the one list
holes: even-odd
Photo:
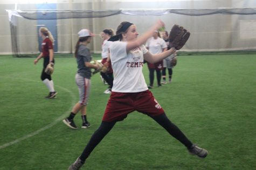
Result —
[{"label": "green artificial turf covering the indoor field floor", "polygon": [[[95,55],[96,60],[100,56]],[[42,61],[0,56],[0,169],[63,170],[77,159],[98,129],[109,94],[100,76],[92,77],[87,106],[91,127],[81,116],[69,129],[61,120],[78,101],[73,57],[56,57],[57,98],[40,80]],[[252,170],[256,169],[256,54],[178,56],[173,81],[151,91],[169,119],[200,147],[205,159],[191,156],[150,117],[138,112],[115,127],[86,160],[87,170]],[[144,77],[149,83],[148,68]]]}]

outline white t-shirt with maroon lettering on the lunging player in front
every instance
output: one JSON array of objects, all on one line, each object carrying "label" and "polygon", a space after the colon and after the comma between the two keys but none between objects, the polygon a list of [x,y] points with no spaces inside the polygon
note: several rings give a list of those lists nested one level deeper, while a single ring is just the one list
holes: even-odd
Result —
[{"label": "white t-shirt with maroon lettering on the lunging player in front", "polygon": [[121,93],[146,91],[148,86],[142,68],[143,55],[148,53],[148,50],[142,45],[127,54],[126,46],[127,42],[115,41],[109,48],[114,75],[112,91]]}]

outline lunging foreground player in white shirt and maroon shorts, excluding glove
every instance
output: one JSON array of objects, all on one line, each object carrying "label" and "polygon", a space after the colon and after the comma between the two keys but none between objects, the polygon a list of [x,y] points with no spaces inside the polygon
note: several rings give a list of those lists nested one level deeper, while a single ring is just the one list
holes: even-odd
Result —
[{"label": "lunging foreground player in white shirt and maroon shorts, excluding glove", "polygon": [[122,22],[116,29],[116,35],[110,40],[110,59],[114,71],[114,85],[101,125],[94,132],[87,146],[77,160],[68,168],[77,170],[85,164],[93,149],[100,143],[117,121],[122,121],[135,110],[148,115],[160,124],[169,134],[181,142],[191,154],[205,158],[207,151],[194,145],[165,115],[153,94],[148,90],[143,77],[143,58],[150,63],[157,63],[173,54],[176,49],[171,48],[160,54],[151,54],[143,45],[155,30],[163,27],[159,20],[146,33],[138,38],[136,26],[129,22]]}]

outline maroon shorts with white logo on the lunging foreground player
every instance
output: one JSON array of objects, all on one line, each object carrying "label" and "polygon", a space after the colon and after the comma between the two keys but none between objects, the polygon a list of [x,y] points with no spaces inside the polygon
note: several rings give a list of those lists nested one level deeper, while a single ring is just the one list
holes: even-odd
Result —
[{"label": "maroon shorts with white logo on the lunging foreground player", "polygon": [[164,113],[164,110],[149,90],[138,93],[112,92],[102,121],[122,121],[135,110],[148,116],[157,116]]}]

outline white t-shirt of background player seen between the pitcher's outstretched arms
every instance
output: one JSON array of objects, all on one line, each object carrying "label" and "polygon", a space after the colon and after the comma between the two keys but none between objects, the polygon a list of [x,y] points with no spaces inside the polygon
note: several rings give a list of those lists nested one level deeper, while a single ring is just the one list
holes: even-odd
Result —
[{"label": "white t-shirt of background player seen between the pitcher's outstretched arms", "polygon": [[163,39],[159,37],[157,39],[154,39],[154,37],[151,37],[147,40],[146,47],[149,48],[149,52],[151,54],[159,54],[163,52],[164,48],[167,48],[167,45]]}]

